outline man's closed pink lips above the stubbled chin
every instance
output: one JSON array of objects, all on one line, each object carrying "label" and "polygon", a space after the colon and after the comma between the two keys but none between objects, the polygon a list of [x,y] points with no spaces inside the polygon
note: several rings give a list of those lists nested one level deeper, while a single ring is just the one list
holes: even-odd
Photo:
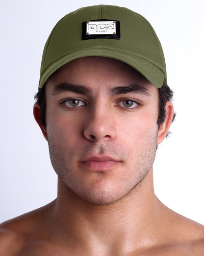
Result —
[{"label": "man's closed pink lips above the stubbled chin", "polygon": [[107,171],[113,169],[120,163],[121,161],[115,160],[109,156],[90,156],[79,162],[83,168],[90,171]]}]

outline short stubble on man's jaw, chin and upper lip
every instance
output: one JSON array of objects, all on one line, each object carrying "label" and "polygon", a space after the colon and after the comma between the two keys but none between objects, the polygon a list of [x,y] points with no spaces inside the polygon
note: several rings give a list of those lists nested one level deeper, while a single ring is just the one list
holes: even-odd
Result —
[{"label": "short stubble on man's jaw, chin and upper lip", "polygon": [[[139,191],[145,184],[145,178],[153,166],[157,147],[157,131],[147,138],[145,145],[139,150],[139,154],[135,155],[134,164],[131,165],[131,170],[128,165],[128,152],[123,149],[122,145],[111,145],[111,143],[93,143],[87,144],[77,153],[72,151],[67,152],[62,146],[62,143],[52,134],[48,133],[48,144],[51,163],[53,169],[58,175],[59,179],[64,184],[67,194],[76,196],[95,205],[108,205],[115,203],[125,197],[131,196],[133,193]],[[139,147],[139,145],[135,145]],[[65,154],[65,152],[67,152]],[[72,159],[83,159],[91,154],[105,154],[115,156],[117,159],[123,159],[123,169],[118,170],[116,176],[123,176],[123,180],[118,177],[115,181],[113,176],[104,172],[93,173],[94,183],[90,186],[89,182],[85,181],[81,184],[78,171],[73,168]],[[76,165],[77,167],[77,165]],[[127,170],[126,170],[127,168]],[[79,174],[80,175],[80,174]],[[76,179],[77,177],[77,179]],[[79,178],[79,180],[78,180]],[[111,182],[110,180],[111,179]],[[87,183],[86,183],[87,182]]]}]

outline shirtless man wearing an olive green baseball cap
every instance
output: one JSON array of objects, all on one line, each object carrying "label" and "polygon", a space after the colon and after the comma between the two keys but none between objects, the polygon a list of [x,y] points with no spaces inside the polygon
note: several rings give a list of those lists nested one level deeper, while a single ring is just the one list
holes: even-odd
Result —
[{"label": "shirtless man wearing an olive green baseball cap", "polygon": [[33,110],[57,198],[1,224],[1,255],[204,255],[204,226],[153,190],[172,96],[160,42],[142,16],[99,5],[62,18],[44,49]]}]

